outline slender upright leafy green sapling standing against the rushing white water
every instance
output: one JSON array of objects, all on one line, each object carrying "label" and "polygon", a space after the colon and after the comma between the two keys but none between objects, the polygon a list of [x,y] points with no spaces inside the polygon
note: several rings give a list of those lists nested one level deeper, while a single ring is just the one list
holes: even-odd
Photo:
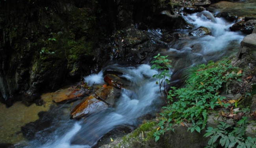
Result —
[{"label": "slender upright leafy green sapling standing against the rushing white water", "polygon": [[[153,58],[155,58],[156,60],[154,60],[154,61],[151,62],[151,63],[154,63],[154,64],[151,66],[151,69],[156,69],[156,70],[158,71],[158,74],[153,75],[153,78],[156,78],[156,79],[159,80],[159,82],[156,81],[156,84],[159,84],[160,93],[162,94],[162,92],[161,92],[161,87],[162,87],[162,84],[163,84],[164,91],[165,91],[165,93],[168,95],[167,91],[165,90],[165,82],[166,82],[167,84],[170,84],[168,78],[171,78],[169,68],[172,67],[172,66],[170,65],[172,61],[169,60],[169,59],[167,59],[167,57],[168,57],[168,56],[160,56],[160,54],[158,54],[157,56],[153,57]],[[165,93],[164,93],[164,94],[165,94]]]}]

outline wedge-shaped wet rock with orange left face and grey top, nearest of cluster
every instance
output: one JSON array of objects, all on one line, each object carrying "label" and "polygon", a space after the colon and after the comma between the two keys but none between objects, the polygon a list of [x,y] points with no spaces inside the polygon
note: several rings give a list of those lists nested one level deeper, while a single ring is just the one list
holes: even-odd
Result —
[{"label": "wedge-shaped wet rock with orange left face and grey top, nearest of cluster", "polygon": [[102,100],[96,99],[93,95],[90,95],[82,102],[80,102],[71,112],[70,119],[78,119],[83,116],[91,115],[98,111],[102,111],[108,108],[108,104]]}]

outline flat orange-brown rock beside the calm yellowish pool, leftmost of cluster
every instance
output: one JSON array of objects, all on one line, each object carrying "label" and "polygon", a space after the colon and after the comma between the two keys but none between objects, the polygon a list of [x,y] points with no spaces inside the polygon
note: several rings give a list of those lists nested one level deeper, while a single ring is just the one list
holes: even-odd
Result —
[{"label": "flat orange-brown rock beside the calm yellowish pool, leftmost of cluster", "polygon": [[56,91],[53,94],[53,101],[56,103],[67,102],[74,99],[80,99],[85,95],[89,95],[93,90],[93,86],[89,87],[86,83],[82,82],[76,87],[72,86],[65,90]]}]

